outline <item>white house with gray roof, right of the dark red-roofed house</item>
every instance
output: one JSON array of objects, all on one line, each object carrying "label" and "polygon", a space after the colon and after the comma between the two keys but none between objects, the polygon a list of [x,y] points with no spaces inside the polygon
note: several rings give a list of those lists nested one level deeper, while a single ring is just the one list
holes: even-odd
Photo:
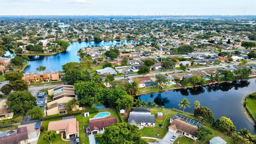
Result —
[{"label": "white house with gray roof, right of the dark red-roofed house", "polygon": [[151,112],[130,112],[128,123],[135,124],[139,128],[154,127],[156,120],[155,115]]}]

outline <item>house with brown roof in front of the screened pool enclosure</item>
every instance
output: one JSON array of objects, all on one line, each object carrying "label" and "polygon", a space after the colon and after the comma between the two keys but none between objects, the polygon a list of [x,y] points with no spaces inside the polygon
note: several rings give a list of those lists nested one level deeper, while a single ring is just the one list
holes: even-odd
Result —
[{"label": "house with brown roof in front of the screened pool enclosure", "polygon": [[168,126],[168,131],[176,134],[179,132],[183,134],[187,138],[191,138],[192,140],[197,140],[195,133],[197,131],[197,126],[189,124],[179,119],[173,120],[170,126]]}]

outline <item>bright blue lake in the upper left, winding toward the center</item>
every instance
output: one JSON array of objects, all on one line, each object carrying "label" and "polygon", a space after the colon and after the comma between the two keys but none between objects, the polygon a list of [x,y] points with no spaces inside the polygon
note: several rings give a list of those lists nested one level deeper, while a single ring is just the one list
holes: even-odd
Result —
[{"label": "bright blue lake in the upper left, winding toward the center", "polygon": [[[124,44],[129,45],[131,42],[127,42],[124,40]],[[65,52],[61,52],[59,54],[55,54],[52,56],[29,56],[30,61],[28,66],[24,69],[26,71],[36,70],[38,66],[46,66],[46,70],[62,70],[62,65],[68,62],[80,62],[79,56],[77,55],[77,51],[80,48],[91,47],[92,45],[96,46],[114,46],[120,45],[120,41],[114,40],[108,42],[71,42],[70,46]]]}]

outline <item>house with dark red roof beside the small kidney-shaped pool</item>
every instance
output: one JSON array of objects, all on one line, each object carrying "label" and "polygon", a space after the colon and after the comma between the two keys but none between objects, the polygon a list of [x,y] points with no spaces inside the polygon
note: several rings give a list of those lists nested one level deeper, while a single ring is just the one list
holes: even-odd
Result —
[{"label": "house with dark red roof beside the small kidney-shaped pool", "polygon": [[90,130],[93,134],[98,134],[100,131],[104,130],[104,128],[110,126],[111,124],[116,124],[116,117],[109,118],[90,118]]}]

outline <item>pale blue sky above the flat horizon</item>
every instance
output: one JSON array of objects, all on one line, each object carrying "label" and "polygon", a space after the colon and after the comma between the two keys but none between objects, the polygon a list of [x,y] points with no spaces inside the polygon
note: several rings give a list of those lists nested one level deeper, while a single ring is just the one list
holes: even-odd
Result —
[{"label": "pale blue sky above the flat horizon", "polygon": [[0,15],[256,15],[256,0],[0,0]]}]

